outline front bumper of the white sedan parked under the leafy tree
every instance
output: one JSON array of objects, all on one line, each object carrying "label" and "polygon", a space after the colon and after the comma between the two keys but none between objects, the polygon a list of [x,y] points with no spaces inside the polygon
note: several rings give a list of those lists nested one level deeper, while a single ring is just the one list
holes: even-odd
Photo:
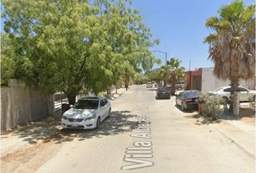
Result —
[{"label": "front bumper of the white sedan parked under the leafy tree", "polygon": [[96,119],[93,120],[83,120],[82,122],[70,122],[61,118],[62,128],[75,128],[75,129],[93,129],[96,128]]}]

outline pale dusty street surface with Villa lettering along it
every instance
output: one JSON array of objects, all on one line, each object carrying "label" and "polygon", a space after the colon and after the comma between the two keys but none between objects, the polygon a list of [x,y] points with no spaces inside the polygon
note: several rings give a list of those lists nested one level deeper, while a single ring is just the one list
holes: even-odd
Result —
[{"label": "pale dusty street surface with Villa lettering along it", "polygon": [[[145,85],[132,86],[112,104],[98,130],[64,130],[20,172],[250,173],[254,159],[208,125],[197,125],[171,99],[155,99]],[[42,159],[40,159],[42,158]],[[33,159],[32,159],[33,160]],[[31,164],[32,165],[32,164]],[[32,171],[31,171],[32,170]]]}]

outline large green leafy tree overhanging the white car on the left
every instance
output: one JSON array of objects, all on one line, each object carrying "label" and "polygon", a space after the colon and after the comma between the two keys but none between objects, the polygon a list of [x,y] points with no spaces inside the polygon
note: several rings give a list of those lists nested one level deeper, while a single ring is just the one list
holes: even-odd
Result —
[{"label": "large green leafy tree overhanging the white car on the left", "polygon": [[[152,68],[150,30],[124,1],[4,0],[14,73],[45,93],[62,91],[74,104],[81,89],[95,94]],[[19,10],[17,10],[19,9]],[[20,73],[17,71],[20,70]]]}]

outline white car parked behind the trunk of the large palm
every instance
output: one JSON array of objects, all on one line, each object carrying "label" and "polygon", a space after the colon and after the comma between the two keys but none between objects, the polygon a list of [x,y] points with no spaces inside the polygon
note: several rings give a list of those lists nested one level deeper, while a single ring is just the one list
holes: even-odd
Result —
[{"label": "white car parked behind the trunk of the large palm", "polygon": [[[229,102],[229,97],[231,96],[231,86],[223,86],[221,88],[213,90],[213,92],[208,92],[209,94],[218,94],[223,99],[226,99],[226,102]],[[249,90],[243,86],[239,86],[239,101],[249,101],[250,98],[255,100],[256,92],[254,90]]]}]

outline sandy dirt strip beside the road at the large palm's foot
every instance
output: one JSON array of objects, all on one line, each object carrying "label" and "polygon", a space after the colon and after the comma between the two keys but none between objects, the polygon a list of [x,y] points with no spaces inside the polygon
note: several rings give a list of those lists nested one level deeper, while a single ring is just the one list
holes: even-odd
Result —
[{"label": "sandy dirt strip beside the road at the large palm's foot", "polygon": [[244,154],[255,159],[255,110],[241,108],[239,117],[221,115],[218,120],[205,120],[197,112],[185,116],[195,125],[209,125]]}]

